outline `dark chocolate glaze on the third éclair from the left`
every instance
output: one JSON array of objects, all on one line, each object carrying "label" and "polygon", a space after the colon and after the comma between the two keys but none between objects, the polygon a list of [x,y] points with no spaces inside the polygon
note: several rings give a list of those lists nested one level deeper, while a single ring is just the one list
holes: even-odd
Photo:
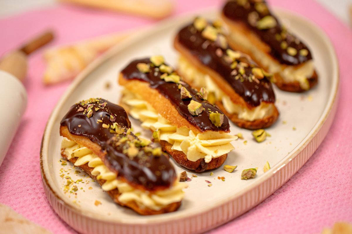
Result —
[{"label": "dark chocolate glaze on the third \u00e9clair from the left", "polygon": [[256,65],[248,56],[242,54],[238,59],[248,65],[243,67],[245,73],[239,77],[239,66],[232,69],[231,62],[226,61],[226,50],[231,48],[227,45],[221,48],[216,41],[206,39],[193,24],[182,28],[176,40],[193,55],[194,59],[224,78],[249,105],[254,107],[261,102],[275,103],[275,93],[269,80],[265,77],[261,80],[251,78],[252,67]]}]

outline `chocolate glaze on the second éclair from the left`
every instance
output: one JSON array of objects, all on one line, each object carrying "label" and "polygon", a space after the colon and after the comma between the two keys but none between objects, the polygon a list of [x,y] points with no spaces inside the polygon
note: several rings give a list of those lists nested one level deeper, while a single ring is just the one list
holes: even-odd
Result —
[{"label": "chocolate glaze on the second \u00e9clair from the left", "polygon": [[[143,73],[137,69],[138,63],[146,63],[149,64],[149,58],[138,59],[132,61],[128,64],[124,70],[121,71],[122,75],[125,79],[137,79],[147,83],[150,83],[150,87],[158,90],[165,98],[169,99],[170,102],[175,106],[178,113],[181,116],[187,119],[187,121],[199,128],[201,131],[230,131],[230,125],[228,123],[227,117],[224,115],[224,122],[220,127],[216,127],[209,119],[209,113],[218,112],[222,113],[217,107],[214,105],[200,99],[197,95],[197,91],[192,89],[186,82],[181,81],[183,87],[185,87],[189,92],[192,98],[181,99],[181,91],[178,89],[178,84],[174,82],[166,82],[164,79],[161,79],[160,76],[163,74],[159,71],[157,67],[150,67],[150,72]],[[191,100],[199,102],[202,104],[203,110],[198,116],[193,116],[188,111],[188,104]]]}]

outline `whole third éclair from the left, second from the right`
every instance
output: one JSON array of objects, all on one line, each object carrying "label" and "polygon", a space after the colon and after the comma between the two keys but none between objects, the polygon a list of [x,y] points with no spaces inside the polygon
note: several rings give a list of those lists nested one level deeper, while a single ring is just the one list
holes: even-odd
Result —
[{"label": "whole third \u00e9clair from the left, second from the right", "polygon": [[271,126],[279,115],[270,74],[249,56],[232,50],[217,21],[204,18],[183,27],[174,46],[181,54],[177,71],[191,85],[209,91],[215,103],[240,128]]}]

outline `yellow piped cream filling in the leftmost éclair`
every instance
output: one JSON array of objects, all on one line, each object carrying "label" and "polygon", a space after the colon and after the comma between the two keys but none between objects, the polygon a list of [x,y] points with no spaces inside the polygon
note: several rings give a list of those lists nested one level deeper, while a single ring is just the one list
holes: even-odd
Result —
[{"label": "yellow piped cream filling in the leftmost \u00e9clair", "polygon": [[183,199],[184,191],[182,189],[186,188],[187,185],[180,183],[179,179],[176,180],[171,188],[166,190],[150,192],[135,189],[128,183],[119,181],[116,174],[110,171],[102,160],[87,147],[78,145],[76,142],[64,137],[61,149],[63,149],[63,154],[68,159],[73,157],[78,158],[74,164],[75,166],[88,163],[89,167],[94,168],[91,172],[92,175],[96,176],[98,180],[106,180],[101,186],[104,191],[118,189],[120,193],[118,200],[121,203],[126,204],[134,201],[141,208],[147,207],[152,210],[161,210],[168,204],[179,202]]}]

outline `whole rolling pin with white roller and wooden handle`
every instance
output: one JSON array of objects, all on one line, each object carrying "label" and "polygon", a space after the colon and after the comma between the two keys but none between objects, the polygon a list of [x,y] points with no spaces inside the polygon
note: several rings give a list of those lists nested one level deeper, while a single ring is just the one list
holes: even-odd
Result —
[{"label": "whole rolling pin with white roller and wooden handle", "polygon": [[27,93],[21,82],[27,73],[27,56],[53,39],[52,32],[45,32],[26,43],[18,51],[6,54],[0,60],[0,166],[15,136],[26,110]]}]

